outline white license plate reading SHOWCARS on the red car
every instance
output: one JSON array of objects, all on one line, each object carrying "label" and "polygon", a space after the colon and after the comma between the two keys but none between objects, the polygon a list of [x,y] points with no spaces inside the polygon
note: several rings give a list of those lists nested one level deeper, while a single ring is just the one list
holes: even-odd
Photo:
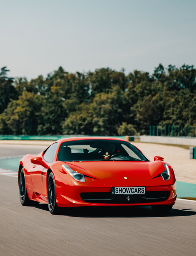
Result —
[{"label": "white license plate reading SHOWCARS on the red car", "polygon": [[145,187],[111,187],[113,195],[145,194]]}]

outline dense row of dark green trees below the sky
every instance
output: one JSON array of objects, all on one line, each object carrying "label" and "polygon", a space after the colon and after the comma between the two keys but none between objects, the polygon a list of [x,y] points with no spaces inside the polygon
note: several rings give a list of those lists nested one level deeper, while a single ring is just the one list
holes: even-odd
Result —
[{"label": "dense row of dark green trees below the sky", "polygon": [[142,135],[149,125],[196,126],[196,69],[159,64],[153,74],[62,67],[28,81],[0,72],[0,134]]}]

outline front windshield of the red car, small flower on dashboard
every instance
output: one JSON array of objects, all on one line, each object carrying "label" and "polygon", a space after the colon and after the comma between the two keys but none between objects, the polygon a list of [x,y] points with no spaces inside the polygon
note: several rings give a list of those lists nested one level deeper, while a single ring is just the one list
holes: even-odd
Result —
[{"label": "front windshield of the red car, small flower on dashboard", "polygon": [[58,161],[149,161],[135,146],[120,140],[75,140],[63,142]]}]

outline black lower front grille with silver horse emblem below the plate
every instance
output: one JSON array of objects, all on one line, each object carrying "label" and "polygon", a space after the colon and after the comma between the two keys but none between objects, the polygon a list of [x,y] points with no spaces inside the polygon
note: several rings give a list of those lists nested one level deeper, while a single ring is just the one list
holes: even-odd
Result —
[{"label": "black lower front grille with silver horse emblem below the plate", "polygon": [[167,200],[169,191],[146,191],[142,195],[112,195],[110,192],[91,192],[80,193],[83,201],[89,203],[105,203],[105,204],[140,204],[140,203],[154,203]]}]

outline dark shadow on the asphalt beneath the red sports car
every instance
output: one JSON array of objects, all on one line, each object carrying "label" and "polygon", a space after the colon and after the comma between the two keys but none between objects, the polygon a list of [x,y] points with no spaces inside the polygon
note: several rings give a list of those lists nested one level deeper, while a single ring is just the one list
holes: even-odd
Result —
[{"label": "dark shadow on the asphalt beneath the red sports car", "polygon": [[[47,204],[39,204],[36,208],[48,211]],[[174,216],[192,216],[196,215],[193,209],[175,209],[173,208],[168,214],[155,214],[151,206],[96,206],[96,207],[78,207],[62,208],[58,215],[83,218],[104,218],[104,217],[174,217]],[[49,211],[48,211],[49,212]]]}]

